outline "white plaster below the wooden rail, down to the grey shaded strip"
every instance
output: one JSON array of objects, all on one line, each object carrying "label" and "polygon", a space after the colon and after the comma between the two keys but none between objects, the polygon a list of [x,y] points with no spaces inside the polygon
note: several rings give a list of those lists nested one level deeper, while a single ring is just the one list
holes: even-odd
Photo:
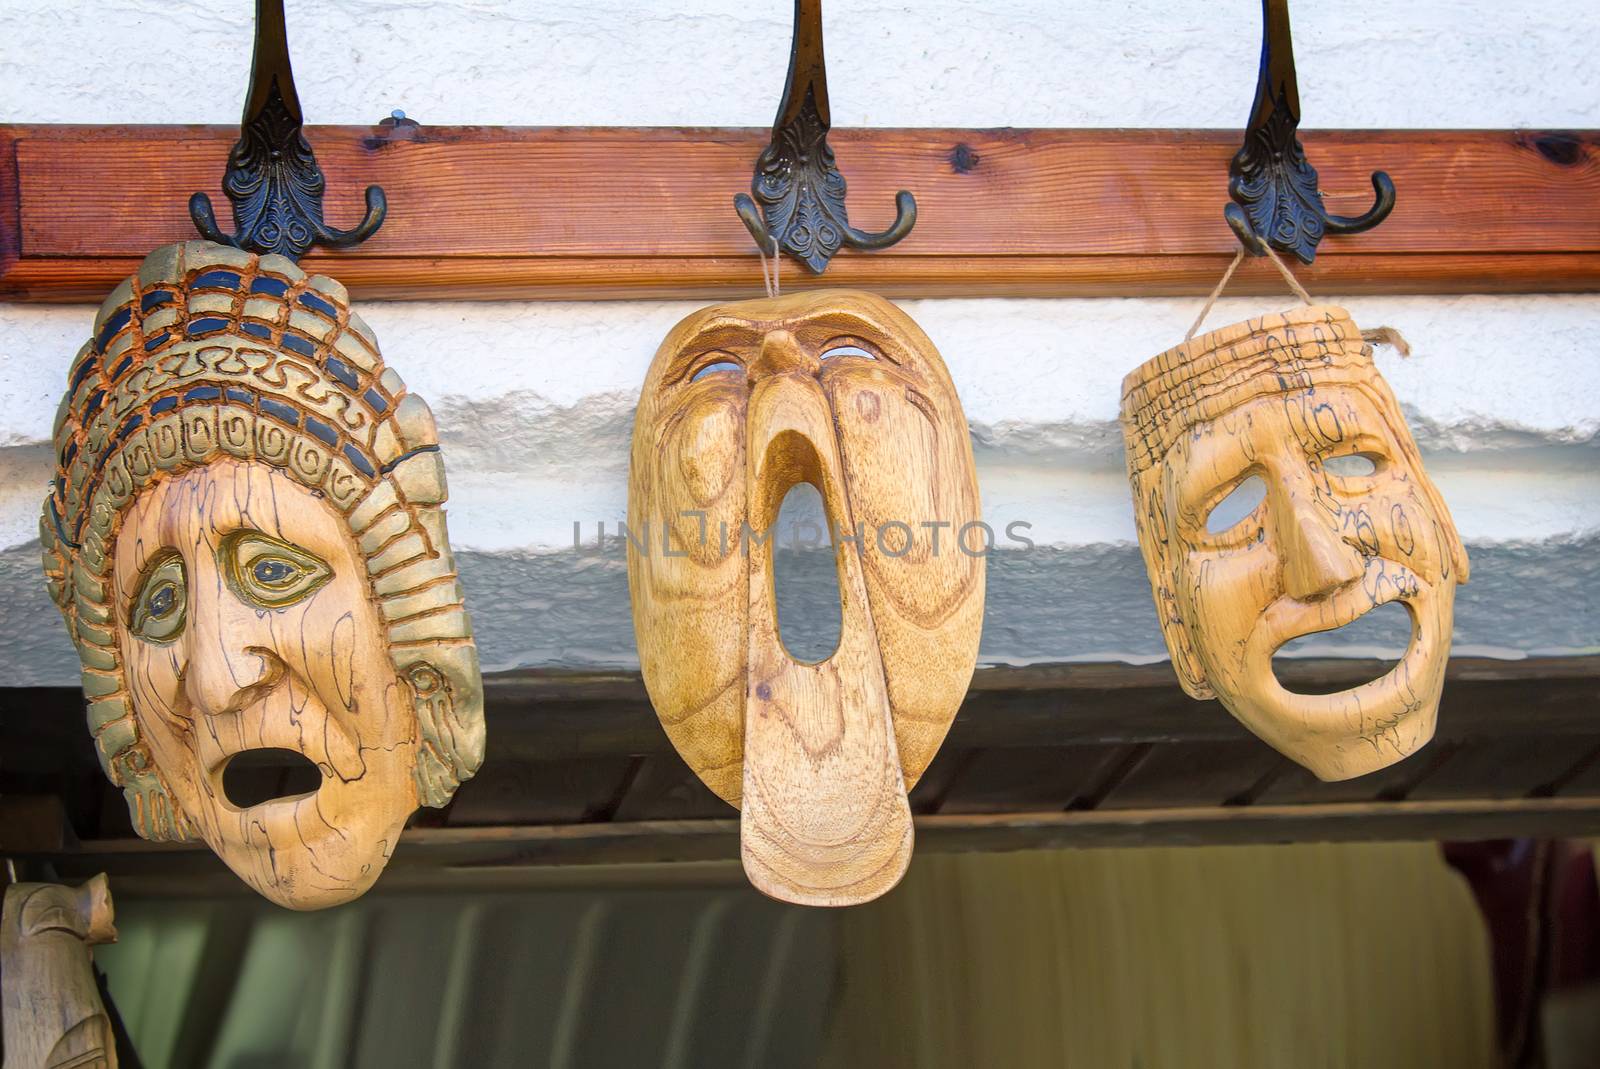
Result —
[{"label": "white plaster below the wooden rail, down to the grey shaded strip", "polygon": [[[1600,298],[1349,298],[1381,349],[1469,541],[1600,531]],[[688,302],[370,302],[386,358],[438,418],[451,530],[486,552],[562,551],[627,512],[638,384]],[[907,301],[939,346],[978,446],[984,510],[1048,546],[1131,543],[1122,376],[1181,339],[1194,299]],[[1221,301],[1211,323],[1272,302]],[[0,306],[0,546],[35,536],[48,435],[90,307]],[[1568,448],[1562,448],[1568,446]],[[26,493],[8,486],[26,486]]]}]

